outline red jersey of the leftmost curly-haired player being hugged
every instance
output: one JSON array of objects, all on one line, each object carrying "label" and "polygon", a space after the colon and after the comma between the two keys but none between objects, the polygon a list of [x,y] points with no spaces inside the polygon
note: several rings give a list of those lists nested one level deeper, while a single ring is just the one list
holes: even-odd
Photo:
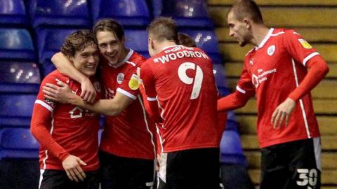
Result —
[{"label": "red jersey of the leftmost curly-haired player being hugged", "polygon": [[[57,85],[57,80],[67,83],[74,94],[81,94],[81,84],[55,70],[41,83]],[[93,80],[100,97],[100,83]],[[71,104],[56,104],[44,98],[40,87],[32,116],[32,133],[40,142],[41,169],[63,169],[62,161],[68,155],[75,155],[86,162],[84,171],[97,170],[98,130],[97,113],[81,109]],[[42,123],[42,124],[41,124]]]}]

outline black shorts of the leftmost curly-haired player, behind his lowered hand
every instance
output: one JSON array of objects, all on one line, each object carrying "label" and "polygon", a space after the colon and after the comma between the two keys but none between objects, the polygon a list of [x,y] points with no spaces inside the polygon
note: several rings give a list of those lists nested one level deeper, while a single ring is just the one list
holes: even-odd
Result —
[{"label": "black shorts of the leftmost curly-haired player, behind his lowered hand", "polygon": [[65,171],[60,170],[41,170],[41,184],[39,189],[98,189],[98,172],[85,172],[84,181],[71,181]]}]

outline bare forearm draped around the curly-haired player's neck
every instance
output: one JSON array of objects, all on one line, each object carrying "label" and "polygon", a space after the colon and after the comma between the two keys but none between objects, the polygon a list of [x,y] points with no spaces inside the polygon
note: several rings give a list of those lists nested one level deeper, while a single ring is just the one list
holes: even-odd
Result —
[{"label": "bare forearm draped around the curly-haired player's neck", "polygon": [[74,64],[72,64],[66,55],[62,52],[58,52],[51,57],[51,62],[53,62],[58,71],[81,83],[82,92],[80,96],[84,100],[91,103],[95,101],[96,91],[93,84],[88,77],[84,76],[83,73],[75,68]]}]

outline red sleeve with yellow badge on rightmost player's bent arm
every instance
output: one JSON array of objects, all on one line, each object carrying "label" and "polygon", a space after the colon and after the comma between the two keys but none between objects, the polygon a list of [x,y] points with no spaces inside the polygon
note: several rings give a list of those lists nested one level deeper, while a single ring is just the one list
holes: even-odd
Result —
[{"label": "red sleeve with yellow badge on rightmost player's bent arm", "polygon": [[295,62],[299,62],[301,66],[307,66],[309,69],[300,85],[289,94],[289,98],[298,101],[324,78],[326,73],[329,72],[329,67],[315,48],[312,48],[296,31],[286,31],[284,46],[291,57],[296,60]]}]

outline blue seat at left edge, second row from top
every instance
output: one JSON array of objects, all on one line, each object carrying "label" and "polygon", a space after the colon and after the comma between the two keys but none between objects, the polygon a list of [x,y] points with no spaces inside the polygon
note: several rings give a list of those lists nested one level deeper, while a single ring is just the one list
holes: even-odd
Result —
[{"label": "blue seat at left edge, second row from top", "polygon": [[0,59],[34,61],[32,38],[26,29],[0,28]]}]

